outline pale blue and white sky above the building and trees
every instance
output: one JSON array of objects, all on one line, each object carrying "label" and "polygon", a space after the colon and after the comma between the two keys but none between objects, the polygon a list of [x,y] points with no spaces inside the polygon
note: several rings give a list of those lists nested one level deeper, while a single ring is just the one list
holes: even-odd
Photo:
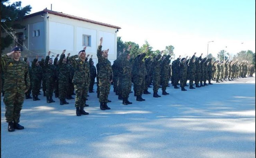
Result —
[{"label": "pale blue and white sky above the building and trees", "polygon": [[255,0],[22,0],[28,4],[31,13],[52,4],[57,12],[120,26],[123,41],[147,40],[154,50],[173,45],[176,55],[206,55],[208,41],[214,56],[222,49],[255,52]]}]

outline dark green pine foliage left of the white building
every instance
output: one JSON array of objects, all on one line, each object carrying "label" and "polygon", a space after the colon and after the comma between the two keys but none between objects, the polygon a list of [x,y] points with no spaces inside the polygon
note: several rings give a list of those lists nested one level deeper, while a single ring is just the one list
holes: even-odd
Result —
[{"label": "dark green pine foliage left of the white building", "polygon": [[[17,23],[21,21],[23,17],[29,14],[31,11],[31,6],[21,7],[21,1],[14,2],[10,4],[9,0],[1,0],[1,27],[11,34],[14,29],[22,29],[25,26]],[[2,32],[5,30],[2,29]],[[6,37],[1,37],[1,51],[12,44],[12,37],[9,35]]]}]

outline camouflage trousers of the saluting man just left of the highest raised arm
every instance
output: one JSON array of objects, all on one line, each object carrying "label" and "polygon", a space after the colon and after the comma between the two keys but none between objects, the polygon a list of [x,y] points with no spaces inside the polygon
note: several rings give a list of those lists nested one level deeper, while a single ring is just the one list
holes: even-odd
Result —
[{"label": "camouflage trousers of the saluting man just left of the highest raised arm", "polygon": [[74,89],[76,92],[75,107],[85,107],[87,97],[85,83],[74,83]]}]

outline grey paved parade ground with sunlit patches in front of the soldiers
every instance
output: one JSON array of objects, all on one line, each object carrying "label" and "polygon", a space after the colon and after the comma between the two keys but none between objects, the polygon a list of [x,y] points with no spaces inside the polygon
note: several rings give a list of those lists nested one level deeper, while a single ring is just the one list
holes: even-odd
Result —
[{"label": "grey paved parade ground with sunlit patches in front of the soldiers", "polygon": [[[255,76],[255,74],[254,74]],[[8,132],[1,98],[2,158],[254,158],[255,77],[181,91],[142,95],[122,105],[111,86],[111,110],[101,111],[88,93],[90,115],[76,116],[69,105],[26,99],[20,124]],[[96,85],[94,85],[96,90]],[[74,97],[74,95],[73,95]]]}]

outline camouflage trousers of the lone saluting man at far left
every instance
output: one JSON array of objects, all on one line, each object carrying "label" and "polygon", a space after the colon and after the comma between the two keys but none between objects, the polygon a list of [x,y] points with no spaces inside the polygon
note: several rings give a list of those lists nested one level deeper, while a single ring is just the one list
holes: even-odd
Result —
[{"label": "camouflage trousers of the lone saluting man at far left", "polygon": [[4,94],[6,122],[20,122],[20,111],[24,102],[24,90],[14,87]]}]

